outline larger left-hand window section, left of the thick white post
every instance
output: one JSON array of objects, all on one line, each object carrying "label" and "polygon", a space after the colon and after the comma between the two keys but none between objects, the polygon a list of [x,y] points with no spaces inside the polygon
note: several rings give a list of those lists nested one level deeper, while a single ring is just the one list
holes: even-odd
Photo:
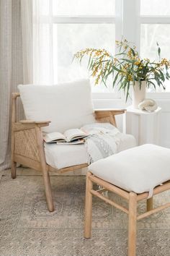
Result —
[{"label": "larger left-hand window section, left of the thick white post", "polygon": [[[88,77],[86,60],[81,66],[72,62],[73,54],[82,48],[115,51],[115,0],[40,0],[39,4],[44,59],[44,64],[39,63],[39,74],[43,82],[48,82],[46,77],[53,77],[52,83]],[[36,8],[35,5],[35,12]],[[37,48],[40,51],[40,46]],[[102,85],[92,86],[92,90],[103,92],[106,89]]]}]

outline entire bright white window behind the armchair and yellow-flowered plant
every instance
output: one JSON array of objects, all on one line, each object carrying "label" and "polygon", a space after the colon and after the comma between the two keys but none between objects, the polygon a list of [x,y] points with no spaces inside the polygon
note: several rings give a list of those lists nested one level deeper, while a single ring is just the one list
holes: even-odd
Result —
[{"label": "entire bright white window behind the armchair and yellow-flowered plant", "polygon": [[[33,35],[36,38],[38,34],[34,74],[39,83],[87,77],[86,60],[80,66],[72,62],[73,54],[82,48],[106,48],[114,54],[115,38],[120,40],[122,36],[138,46],[140,56],[150,59],[157,57],[158,41],[161,56],[170,59],[169,0],[33,0],[33,3],[36,12]],[[104,85],[92,85],[94,95],[120,97],[116,89],[112,90],[111,80],[107,89]],[[168,81],[166,92],[169,91]]]}]

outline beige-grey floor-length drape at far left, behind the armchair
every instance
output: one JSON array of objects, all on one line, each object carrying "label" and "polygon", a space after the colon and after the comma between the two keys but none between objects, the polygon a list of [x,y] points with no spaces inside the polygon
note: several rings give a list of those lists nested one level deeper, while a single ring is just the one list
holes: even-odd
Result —
[{"label": "beige-grey floor-length drape at far left, behind the armchair", "polygon": [[[32,9],[24,16],[23,4],[31,7],[32,0],[0,1],[0,171],[10,167],[12,92],[17,92],[17,85],[32,82]],[[20,102],[17,113],[21,119]]]}]

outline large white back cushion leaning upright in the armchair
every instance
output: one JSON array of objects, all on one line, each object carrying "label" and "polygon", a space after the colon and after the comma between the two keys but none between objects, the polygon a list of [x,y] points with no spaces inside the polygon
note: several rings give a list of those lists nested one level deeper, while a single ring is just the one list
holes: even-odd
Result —
[{"label": "large white back cushion leaning upright in the armchair", "polygon": [[51,121],[44,132],[65,132],[94,122],[89,80],[60,85],[18,85],[27,119]]}]

